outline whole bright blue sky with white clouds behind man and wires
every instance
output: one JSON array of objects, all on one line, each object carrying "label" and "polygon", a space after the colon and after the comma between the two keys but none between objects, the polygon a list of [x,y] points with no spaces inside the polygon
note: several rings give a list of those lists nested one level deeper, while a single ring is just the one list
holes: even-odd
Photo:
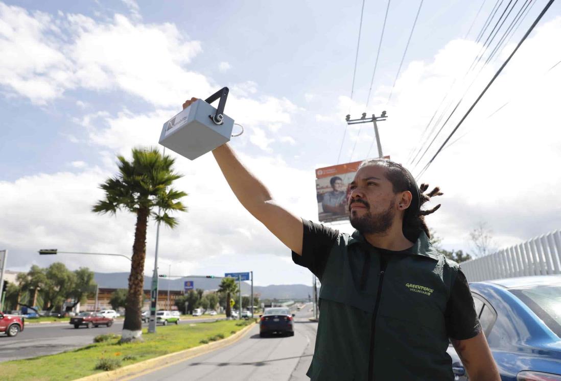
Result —
[{"label": "whole bright blue sky with white clouds behind man and wires", "polygon": [[[388,104],[419,2],[390,4],[367,110],[388,111],[380,126],[384,154],[407,164],[419,146],[448,86],[479,52],[474,40],[495,2],[486,0],[475,18],[481,4],[424,2]],[[544,4],[536,0],[498,59],[476,79],[462,110]],[[47,266],[54,259],[35,254],[42,245],[130,252],[132,216],[89,212],[101,196],[96,185],[114,173],[116,154],[156,145],[162,123],[187,97],[205,97],[222,86],[231,89],[226,113],[246,127],[233,147],[280,201],[317,219],[314,169],[337,160],[344,115],[365,110],[386,5],[365,2],[351,100],[360,1],[0,2],[0,248],[10,250],[8,267]],[[461,140],[421,179],[445,192],[429,225],[449,249],[469,251],[467,234],[479,222],[493,229],[498,248],[560,226],[559,203],[544,202],[554,200],[561,185],[549,172],[561,152],[553,112],[561,65],[549,70],[561,59],[551,49],[561,37],[560,15],[554,4],[459,129]],[[453,96],[469,83],[460,82]],[[364,159],[373,139],[368,130],[347,130],[342,162]],[[413,173],[426,160],[411,167]],[[162,233],[165,263],[182,273],[254,270],[261,285],[309,282],[288,250],[237,205],[210,155],[193,162],[180,157],[177,169],[186,175],[180,185],[190,194],[190,212],[181,216],[179,229]],[[217,215],[224,217],[217,221]],[[352,230],[348,224],[338,228]],[[102,258],[56,259],[71,268],[123,270]]]}]

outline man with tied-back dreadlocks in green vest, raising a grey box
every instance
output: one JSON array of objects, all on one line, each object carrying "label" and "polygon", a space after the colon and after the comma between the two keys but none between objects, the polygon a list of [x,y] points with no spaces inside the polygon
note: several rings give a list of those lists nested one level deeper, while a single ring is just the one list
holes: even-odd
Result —
[{"label": "man with tied-back dreadlocks in green vest, raising a grey box", "polygon": [[[195,98],[186,101],[183,108]],[[457,263],[429,243],[426,193],[403,166],[367,160],[350,184],[340,233],[293,215],[225,144],[213,155],[232,191],[321,281],[312,380],[453,380],[451,340],[472,381],[500,381]]]}]

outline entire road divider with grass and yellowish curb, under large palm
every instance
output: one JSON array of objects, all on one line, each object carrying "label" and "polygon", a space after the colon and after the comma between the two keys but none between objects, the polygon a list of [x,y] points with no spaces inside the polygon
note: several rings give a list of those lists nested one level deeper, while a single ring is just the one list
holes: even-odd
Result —
[{"label": "entire road divider with grass and yellowish curb, under large palm", "polygon": [[217,350],[254,326],[254,320],[220,320],[161,327],[156,334],[144,329],[144,342],[119,344],[113,338],[56,355],[6,361],[0,364],[0,374],[5,381],[58,380],[61,376],[82,381],[122,379]]}]

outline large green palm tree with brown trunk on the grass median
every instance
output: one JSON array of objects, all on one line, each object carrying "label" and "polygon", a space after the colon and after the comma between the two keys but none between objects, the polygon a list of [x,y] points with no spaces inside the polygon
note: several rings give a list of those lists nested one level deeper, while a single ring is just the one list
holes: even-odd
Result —
[{"label": "large green palm tree with brown trunk on the grass median", "polygon": [[[135,240],[132,245],[131,274],[128,277],[128,295],[125,303],[125,323],[121,342],[142,340],[142,297],[144,296],[144,259],[146,258],[146,226],[153,217],[169,227],[178,221],[168,211],[186,211],[182,197],[187,193],[171,188],[183,175],[173,172],[174,159],[162,156],[157,148],[133,148],[132,162],[117,156],[119,173],[109,178],[100,188],[105,199],[93,207],[96,213],[116,214],[117,210],[136,213]],[[153,209],[157,208],[158,212]]]}]

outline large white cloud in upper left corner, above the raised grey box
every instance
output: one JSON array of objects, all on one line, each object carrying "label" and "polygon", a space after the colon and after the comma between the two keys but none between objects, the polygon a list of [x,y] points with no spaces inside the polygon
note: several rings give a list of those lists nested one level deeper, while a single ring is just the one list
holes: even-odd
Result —
[{"label": "large white cloud in upper left corner, above the raised grey box", "polygon": [[201,45],[173,24],[141,24],[119,14],[108,21],[31,14],[0,3],[0,35],[0,85],[36,104],[81,87],[122,90],[171,106],[185,94],[210,94],[214,87],[183,68]]}]

